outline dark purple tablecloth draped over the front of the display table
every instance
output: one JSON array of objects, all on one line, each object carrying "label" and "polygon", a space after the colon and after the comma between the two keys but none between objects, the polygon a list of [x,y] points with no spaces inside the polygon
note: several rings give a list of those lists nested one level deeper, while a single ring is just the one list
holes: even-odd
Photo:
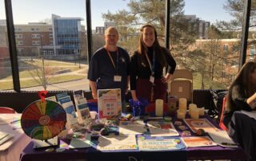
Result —
[{"label": "dark purple tablecloth draped over the front of the display table", "polygon": [[[216,127],[218,124],[206,116],[210,122]],[[175,118],[174,120],[175,121]],[[176,128],[176,127],[175,127]],[[181,130],[176,128],[179,133]],[[193,132],[191,132],[194,135]],[[68,140],[66,140],[68,142]],[[81,149],[68,149],[62,152],[46,152],[46,148],[40,150],[33,149],[33,143],[30,143],[21,154],[21,161],[63,161],[63,160],[193,160],[193,159],[247,159],[246,153],[241,147],[229,148],[229,147],[188,147],[185,150],[180,151],[122,151],[122,152],[102,152],[97,151],[94,147],[81,148]]]}]

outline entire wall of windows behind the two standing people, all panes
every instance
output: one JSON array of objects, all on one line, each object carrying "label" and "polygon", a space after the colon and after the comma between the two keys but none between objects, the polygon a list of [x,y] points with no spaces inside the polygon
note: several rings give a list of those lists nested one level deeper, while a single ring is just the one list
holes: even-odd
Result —
[{"label": "entire wall of windows behind the two standing people, all panes", "polygon": [[[130,54],[138,49],[139,28],[146,23],[156,27],[160,44],[166,45],[166,1],[91,0],[90,4],[90,54],[105,45],[108,26],[118,29],[118,45]],[[252,1],[246,61],[255,59],[255,5]],[[86,1],[12,0],[12,7],[22,90],[89,89]],[[177,68],[193,73],[194,89],[228,88],[234,80],[243,7],[243,0],[170,0],[167,47]],[[0,90],[6,90],[13,88],[13,82],[3,0],[0,9]]]}]

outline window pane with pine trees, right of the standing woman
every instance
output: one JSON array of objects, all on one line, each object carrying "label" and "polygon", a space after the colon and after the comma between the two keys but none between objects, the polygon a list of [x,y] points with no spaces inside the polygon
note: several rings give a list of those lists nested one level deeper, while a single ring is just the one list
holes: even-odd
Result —
[{"label": "window pane with pine trees, right of the standing woman", "polygon": [[194,89],[228,88],[238,73],[242,10],[242,0],[171,1],[171,53],[193,73]]}]

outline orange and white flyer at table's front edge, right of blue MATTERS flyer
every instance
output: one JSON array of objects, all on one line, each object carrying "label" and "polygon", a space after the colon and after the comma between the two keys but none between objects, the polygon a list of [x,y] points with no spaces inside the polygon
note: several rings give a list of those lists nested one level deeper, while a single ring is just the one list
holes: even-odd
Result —
[{"label": "orange and white flyer at table's front edge, right of blue MATTERS flyer", "polygon": [[217,146],[208,136],[182,137],[186,147],[209,147]]}]

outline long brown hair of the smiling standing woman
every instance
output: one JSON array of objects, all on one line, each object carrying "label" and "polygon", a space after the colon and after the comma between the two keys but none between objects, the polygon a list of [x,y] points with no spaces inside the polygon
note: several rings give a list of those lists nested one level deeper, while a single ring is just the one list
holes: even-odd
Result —
[{"label": "long brown hair of the smiling standing woman", "polygon": [[166,63],[166,57],[164,55],[164,48],[162,48],[159,44],[158,41],[158,33],[156,31],[156,29],[154,28],[154,26],[150,25],[150,24],[146,24],[144,26],[141,27],[140,31],[141,31],[141,35],[139,37],[139,45],[138,45],[138,53],[141,56],[142,62],[145,65],[148,65],[147,61],[146,61],[146,56],[145,53],[148,51],[146,45],[143,42],[143,29],[145,29],[146,27],[150,27],[151,29],[154,30],[154,44],[153,44],[153,49],[154,52],[156,54],[157,60],[159,61],[160,65],[162,65],[162,67],[166,67],[167,63]]}]

